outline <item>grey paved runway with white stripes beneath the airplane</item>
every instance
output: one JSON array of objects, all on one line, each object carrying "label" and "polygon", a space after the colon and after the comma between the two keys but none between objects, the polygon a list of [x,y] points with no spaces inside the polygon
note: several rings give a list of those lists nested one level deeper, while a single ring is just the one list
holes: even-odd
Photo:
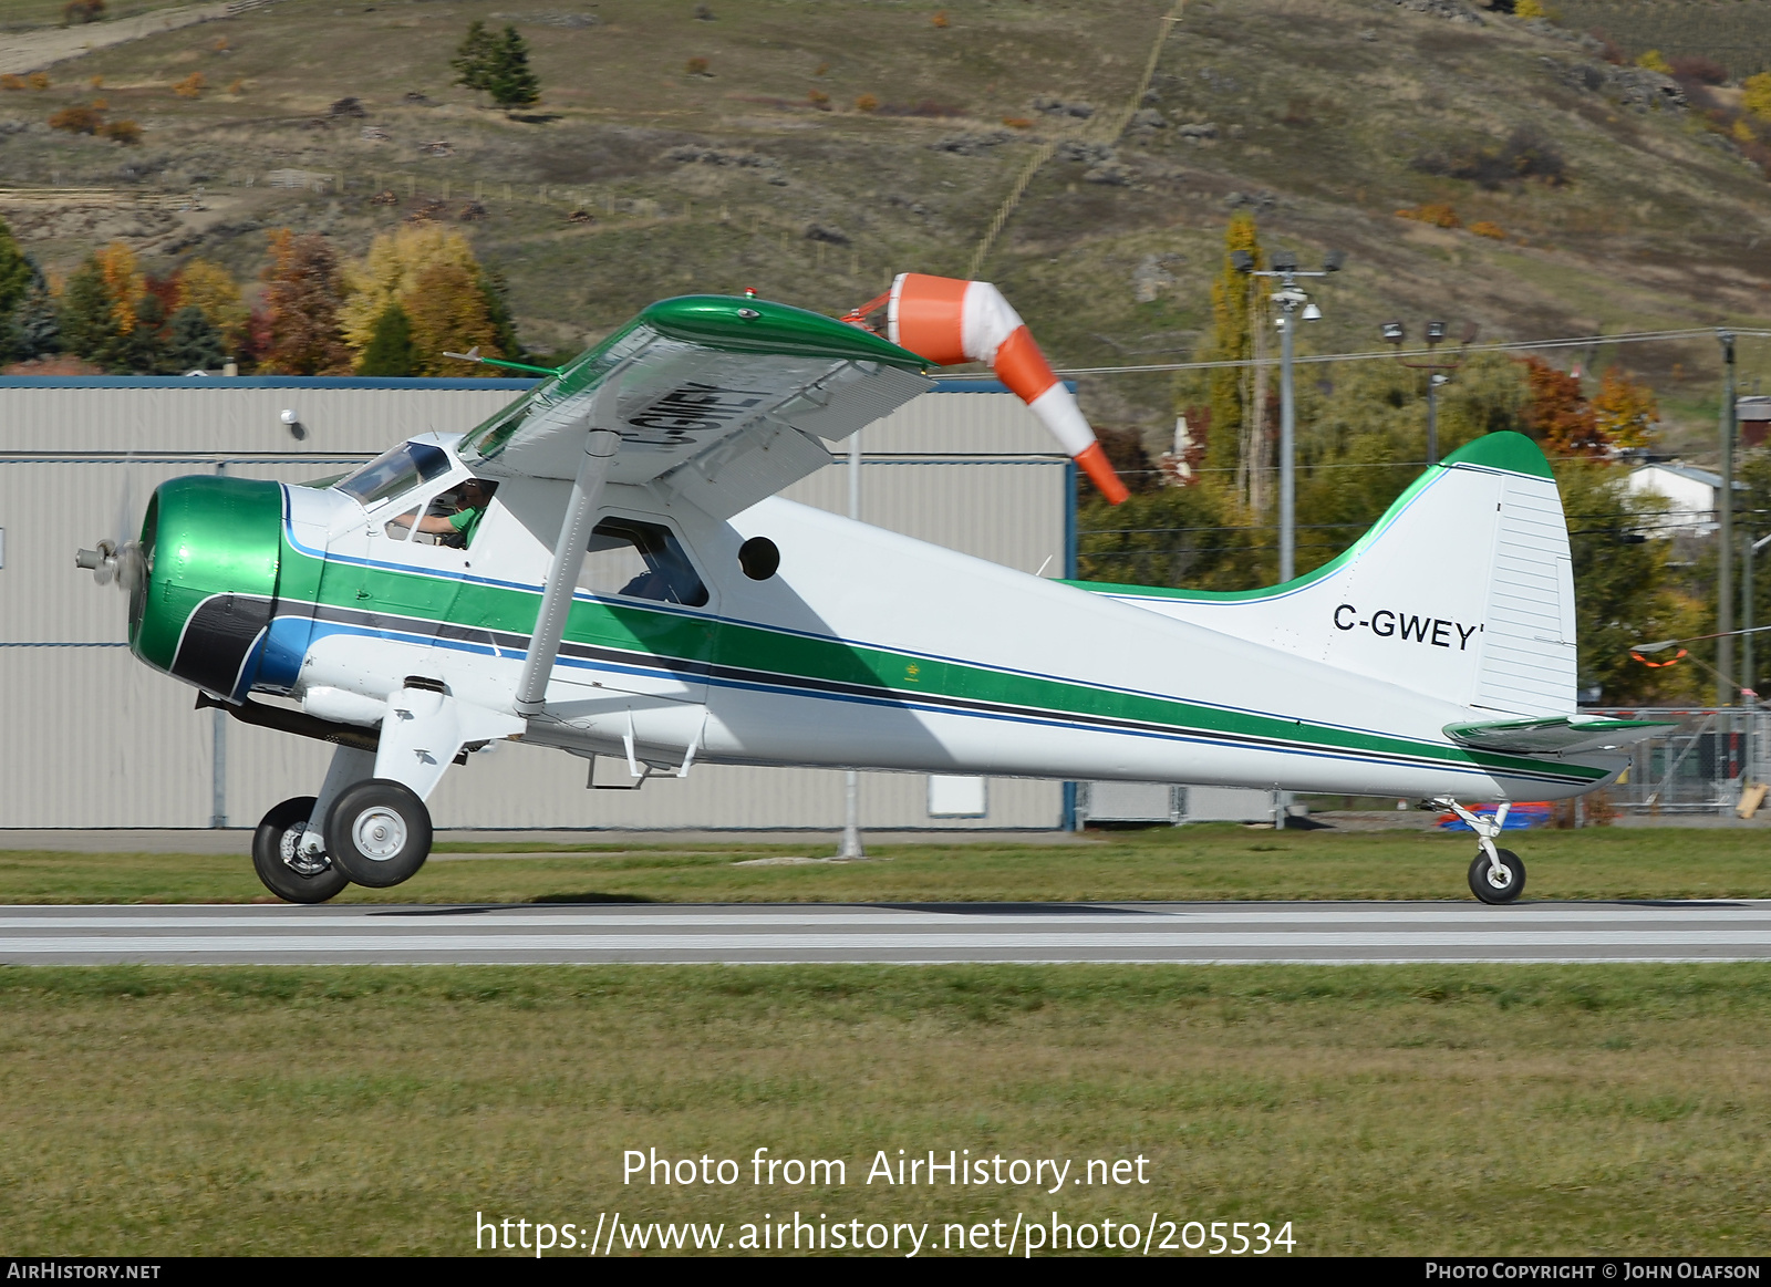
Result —
[{"label": "grey paved runway with white stripes beneath the airplane", "polygon": [[0,963],[1771,959],[1771,901],[9,906]]}]

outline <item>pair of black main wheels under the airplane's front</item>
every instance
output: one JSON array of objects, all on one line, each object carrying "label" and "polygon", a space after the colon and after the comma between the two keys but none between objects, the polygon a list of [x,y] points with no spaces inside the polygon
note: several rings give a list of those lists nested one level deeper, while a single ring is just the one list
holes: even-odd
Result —
[{"label": "pair of black main wheels under the airplane's front", "polygon": [[388,889],[411,880],[430,857],[430,811],[416,791],[386,777],[347,786],[326,811],[326,848],[301,848],[312,795],[283,800],[251,837],[259,880],[290,903],[324,903],[349,883]]}]

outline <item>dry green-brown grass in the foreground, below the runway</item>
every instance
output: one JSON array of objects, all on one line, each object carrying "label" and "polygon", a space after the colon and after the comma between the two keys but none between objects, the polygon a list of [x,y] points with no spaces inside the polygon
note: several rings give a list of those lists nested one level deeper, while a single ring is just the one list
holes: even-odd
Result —
[{"label": "dry green-brown grass in the foreground, below the runway", "polygon": [[[0,974],[0,1245],[469,1253],[577,1221],[1293,1221],[1298,1253],[1764,1253],[1771,970]],[[756,1188],[749,1158],[847,1184]],[[742,1160],[623,1186],[625,1149]],[[875,1151],[1148,1184],[866,1184]]]}]

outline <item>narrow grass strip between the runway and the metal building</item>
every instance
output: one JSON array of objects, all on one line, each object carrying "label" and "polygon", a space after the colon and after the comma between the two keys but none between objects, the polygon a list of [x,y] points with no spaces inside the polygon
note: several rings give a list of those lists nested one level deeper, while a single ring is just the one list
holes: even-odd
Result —
[{"label": "narrow grass strip between the runway and the metal building", "polygon": [[[1771,855],[1757,832],[1590,828],[1521,832],[1527,898],[1766,898]],[[466,850],[448,844],[445,850]],[[620,848],[517,857],[522,844],[475,841],[395,889],[351,887],[374,903],[921,903],[1141,899],[1470,898],[1468,834],[1270,832],[1234,825],[1105,832],[1077,844],[903,844],[870,862],[763,864],[825,855],[799,844]],[[269,901],[241,857],[0,852],[0,903]]]}]

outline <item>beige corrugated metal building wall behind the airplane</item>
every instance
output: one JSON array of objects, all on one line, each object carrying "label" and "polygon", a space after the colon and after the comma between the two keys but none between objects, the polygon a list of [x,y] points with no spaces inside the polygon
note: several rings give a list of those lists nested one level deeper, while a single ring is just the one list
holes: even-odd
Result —
[{"label": "beige corrugated metal building wall behind the airplane", "polygon": [[[290,381],[248,389],[0,381],[0,827],[211,825],[214,713],[193,712],[189,687],[115,646],[124,597],[73,566],[73,551],[112,535],[120,508],[138,522],[159,482],[218,466],[282,482],[336,473],[398,434],[471,427],[512,397]],[[305,443],[278,421],[285,407],[301,414]],[[868,522],[1024,572],[1063,570],[1066,462],[1013,395],[917,398],[866,428],[862,446]],[[122,459],[128,450],[140,455]],[[845,512],[843,471],[813,474],[786,496]],[[223,738],[228,825],[312,793],[329,754],[234,721]],[[499,745],[452,770],[432,813],[441,827],[831,828],[843,818],[839,772],[701,765],[687,781],[586,791],[584,770],[572,756]],[[861,784],[870,828],[1056,827],[1063,807],[1056,782],[992,781],[988,802],[985,818],[932,820],[926,777],[864,774]]]}]

